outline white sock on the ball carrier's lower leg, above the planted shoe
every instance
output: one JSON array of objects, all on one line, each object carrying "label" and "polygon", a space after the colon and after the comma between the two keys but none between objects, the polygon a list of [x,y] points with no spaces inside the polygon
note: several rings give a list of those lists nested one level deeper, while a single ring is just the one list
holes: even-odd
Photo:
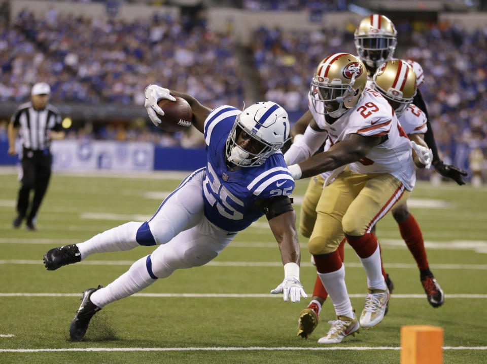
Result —
[{"label": "white sock on the ball carrier's lower leg, above the planted shoe", "polygon": [[103,307],[113,301],[133,295],[152,285],[157,279],[151,278],[146,266],[147,257],[137,260],[128,271],[115,279],[105,288],[90,296],[91,302]]}]

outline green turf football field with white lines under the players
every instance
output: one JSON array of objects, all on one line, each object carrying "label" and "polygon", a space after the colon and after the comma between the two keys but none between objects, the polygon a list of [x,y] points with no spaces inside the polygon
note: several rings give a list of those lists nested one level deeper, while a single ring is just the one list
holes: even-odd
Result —
[{"label": "green turf football field with white lines under the players", "polygon": [[[126,221],[150,218],[183,175],[137,178],[54,175],[38,220],[39,230],[12,228],[17,176],[0,175],[0,363],[399,363],[400,328],[444,330],[444,363],[487,362],[487,188],[419,183],[409,201],[423,229],[431,270],[446,294],[432,308],[396,223],[377,225],[386,270],[394,281],[389,313],[379,326],[338,345],[318,344],[334,319],[330,300],[308,340],[296,337],[307,300],[291,304],[269,291],[284,275],[265,218],[239,233],[210,264],[178,270],[134,297],[97,313],[83,342],[69,341],[69,323],[81,293],[107,285],[153,249],[92,255],[47,271],[50,248],[84,241]],[[297,183],[299,197],[307,181]],[[177,216],[174,217],[177,219]],[[300,236],[301,281],[309,297],[316,270]],[[346,284],[360,314],[366,279],[345,248]]]}]

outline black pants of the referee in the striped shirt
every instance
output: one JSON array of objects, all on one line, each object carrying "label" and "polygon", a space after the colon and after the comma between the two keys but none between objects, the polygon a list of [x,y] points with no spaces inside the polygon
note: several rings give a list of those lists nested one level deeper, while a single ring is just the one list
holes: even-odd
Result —
[{"label": "black pants of the referee in the striped shirt", "polygon": [[[48,149],[30,150],[24,148],[22,155],[23,174],[17,200],[17,212],[22,218],[27,216],[27,222],[31,222],[37,216],[51,178],[51,164],[52,154]],[[31,190],[34,190],[34,197],[27,215]]]}]

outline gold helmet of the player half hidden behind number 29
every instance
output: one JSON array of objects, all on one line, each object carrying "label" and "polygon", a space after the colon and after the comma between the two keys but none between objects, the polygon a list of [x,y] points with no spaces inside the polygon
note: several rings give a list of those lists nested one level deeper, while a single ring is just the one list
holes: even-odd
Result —
[{"label": "gold helmet of the player half hidden behind number 29", "polygon": [[416,95],[416,74],[406,61],[387,61],[375,71],[372,89],[380,92],[400,116]]}]

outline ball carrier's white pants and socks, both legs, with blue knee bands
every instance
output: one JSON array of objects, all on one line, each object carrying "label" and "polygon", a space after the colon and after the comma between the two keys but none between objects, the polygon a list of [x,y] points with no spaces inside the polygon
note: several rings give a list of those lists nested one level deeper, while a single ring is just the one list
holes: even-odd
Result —
[{"label": "ball carrier's white pants and socks, both legs, with blue knee bands", "polygon": [[82,259],[93,253],[160,245],[106,288],[94,292],[91,301],[95,305],[103,307],[128,297],[176,269],[204,265],[230,244],[236,233],[223,230],[204,217],[204,176],[204,168],[189,175],[148,222],[129,222],[77,244]]}]

